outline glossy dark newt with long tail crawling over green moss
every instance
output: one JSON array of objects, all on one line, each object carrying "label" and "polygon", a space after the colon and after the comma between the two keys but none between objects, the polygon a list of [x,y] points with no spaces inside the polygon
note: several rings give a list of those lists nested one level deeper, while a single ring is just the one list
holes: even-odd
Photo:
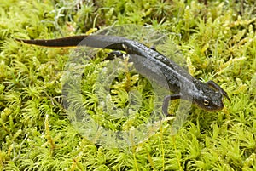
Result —
[{"label": "glossy dark newt with long tail crawling over green moss", "polygon": [[[133,62],[139,73],[172,91],[173,94],[167,95],[163,101],[162,110],[166,115],[168,115],[167,109],[170,100],[192,100],[194,104],[206,111],[222,110],[224,96],[230,100],[228,94],[217,83],[213,81],[202,83],[154,48],[148,48],[142,43],[125,37],[91,35],[50,40],[17,39],[17,41],[46,47],[88,46],[125,51],[126,54],[129,54],[129,60]],[[121,54],[113,51],[110,56]]]}]

